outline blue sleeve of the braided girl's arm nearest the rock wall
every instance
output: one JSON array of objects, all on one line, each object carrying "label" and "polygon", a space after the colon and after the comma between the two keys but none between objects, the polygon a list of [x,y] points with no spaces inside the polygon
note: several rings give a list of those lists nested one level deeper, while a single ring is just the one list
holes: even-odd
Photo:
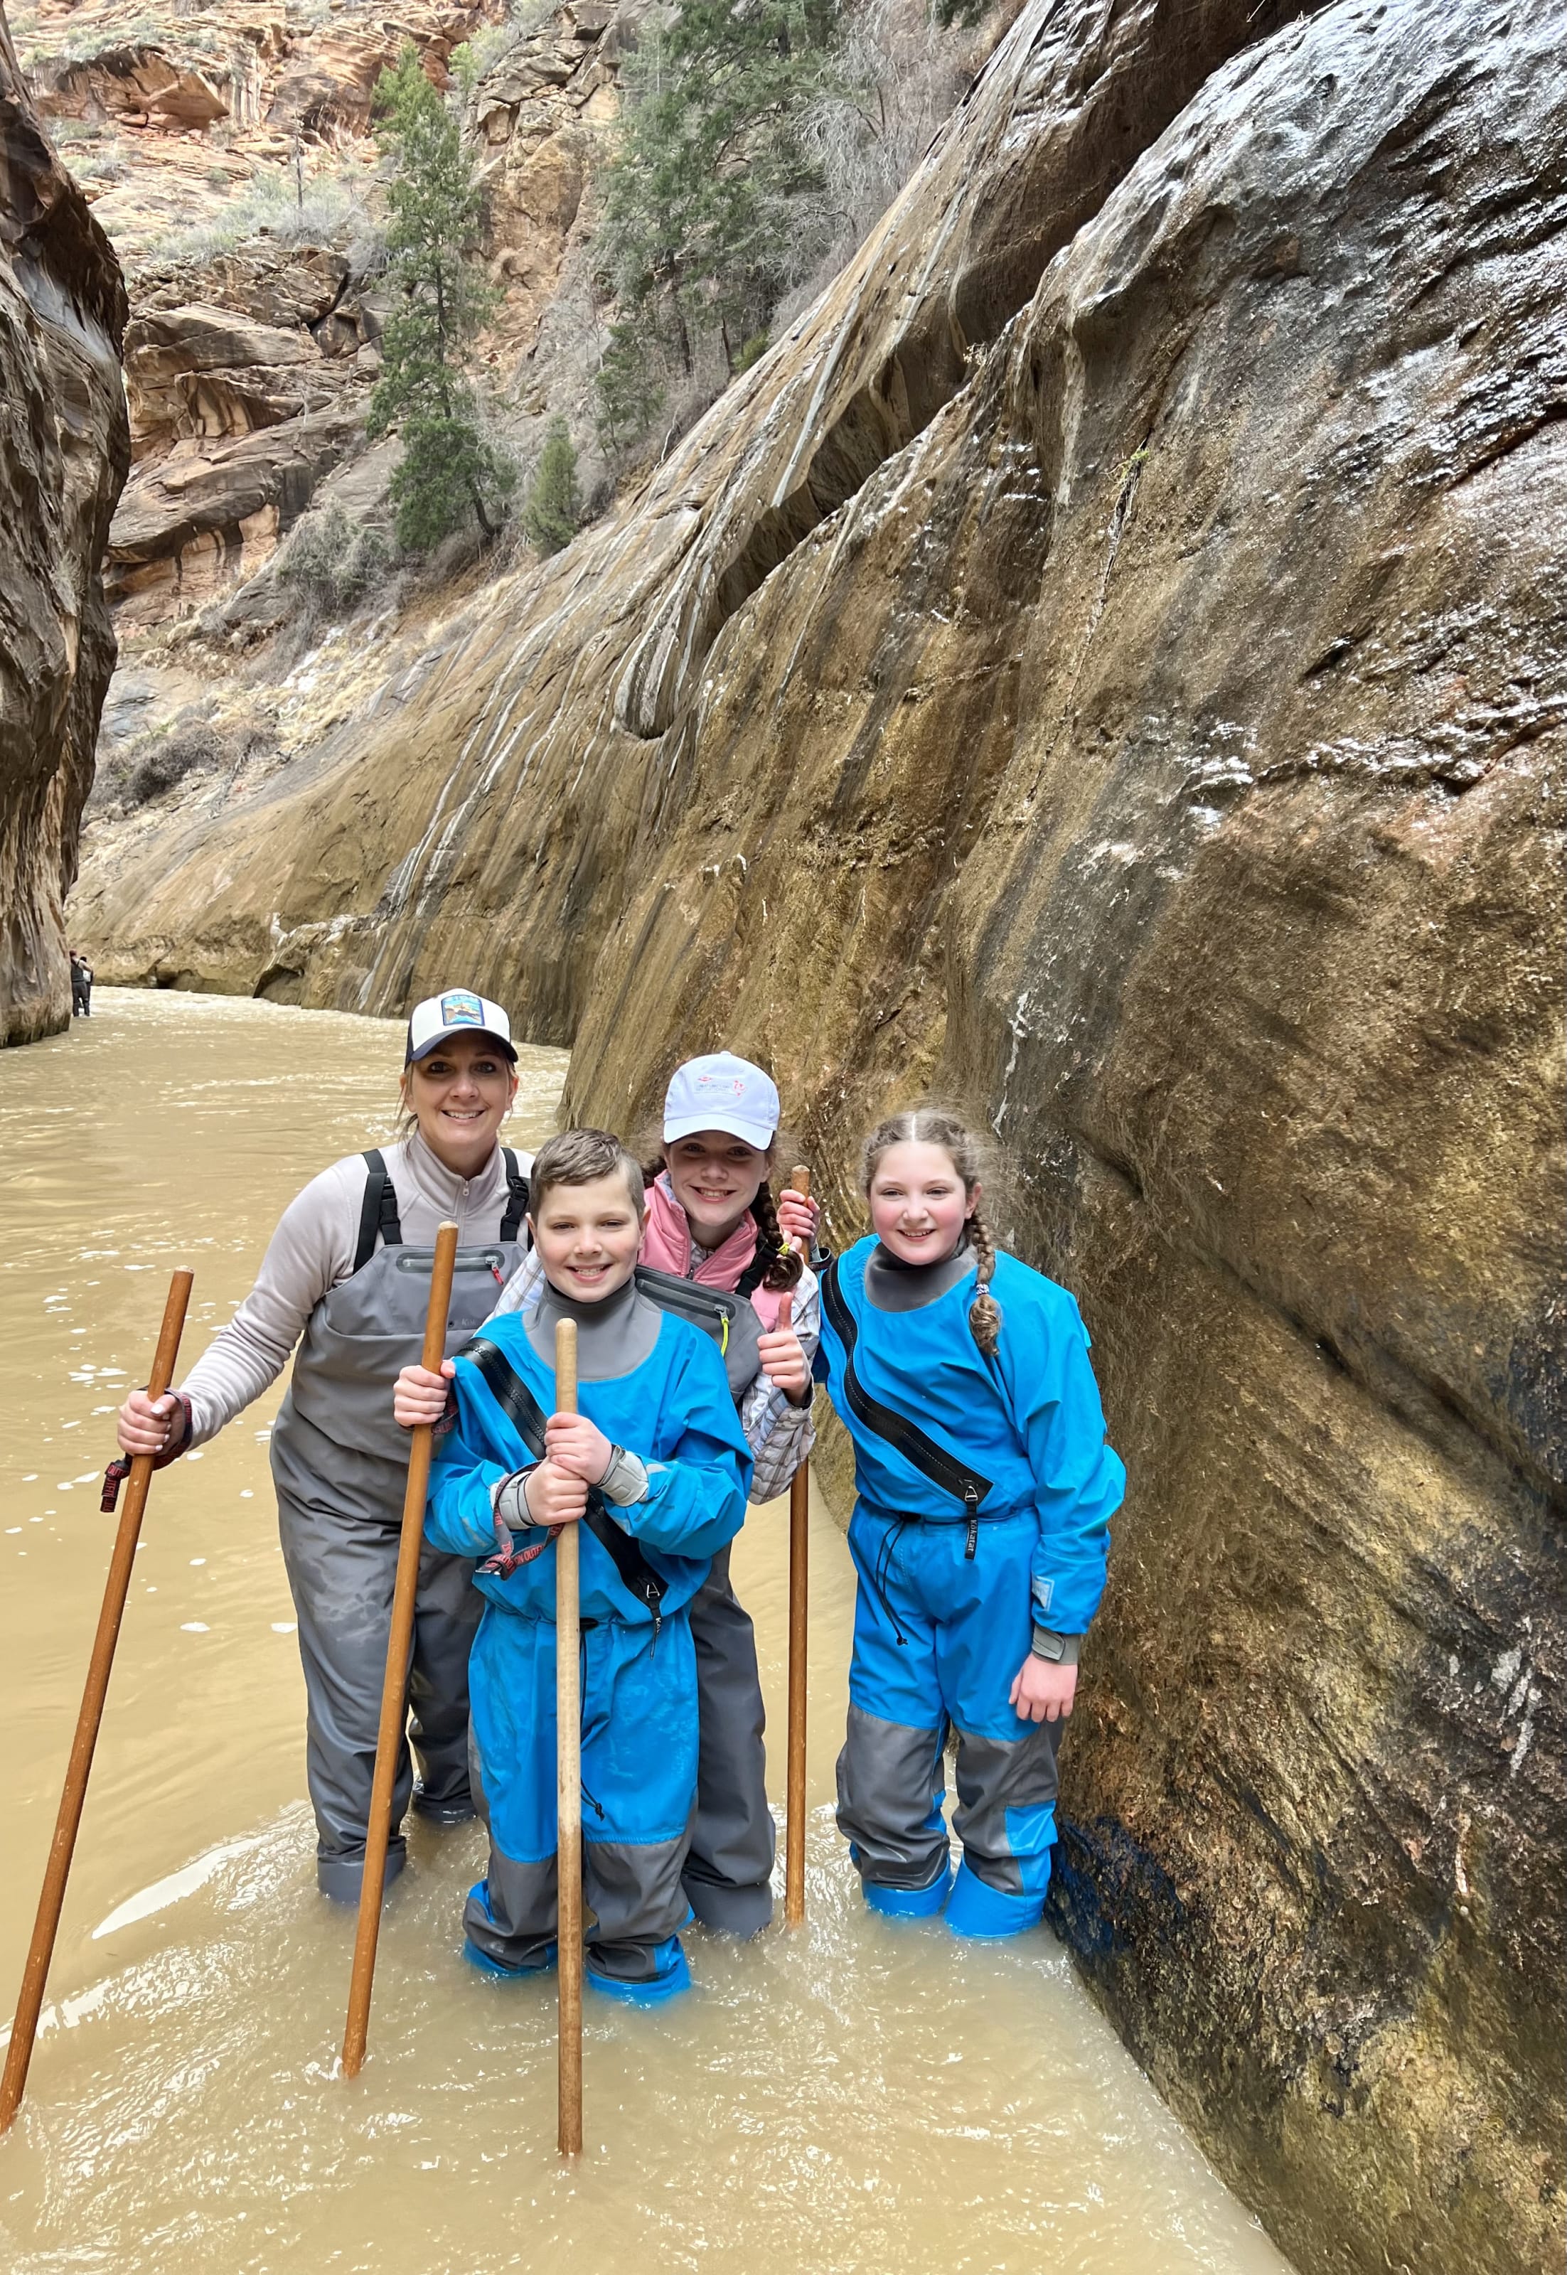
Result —
[{"label": "blue sleeve of the braided girl's arm nearest the rock wall", "polygon": [[1019,1322],[1026,1333],[1010,1333],[1012,1322],[1003,1320],[998,1358],[1037,1483],[1035,1627],[1080,1636],[1105,1592],[1110,1517],[1121,1506],[1126,1470],[1105,1445],[1078,1306],[1064,1290],[1051,1297],[1039,1310],[1028,1308]]}]

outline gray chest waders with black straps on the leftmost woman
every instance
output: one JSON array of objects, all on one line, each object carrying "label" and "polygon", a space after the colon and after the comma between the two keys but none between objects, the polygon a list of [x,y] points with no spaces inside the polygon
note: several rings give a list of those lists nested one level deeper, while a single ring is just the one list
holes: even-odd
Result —
[{"label": "gray chest waders with black straps on the leftmost woman", "polygon": [[[307,1693],[307,1774],[316,1811],[316,1881],[339,1902],[359,1900],[364,1829],[375,1774],[380,1688],[387,1672],[391,1586],[407,1479],[407,1433],[391,1413],[403,1367],[418,1365],[432,1249],[403,1244],[398,1197],[380,1153],[366,1153],[364,1210],[353,1276],[316,1304],[273,1429],[277,1529],[298,1615]],[[457,1249],[446,1354],[469,1342],[523,1260],[519,1235],[528,1178],[507,1153],[509,1197],[498,1238]],[[378,1244],[380,1242],[380,1244]],[[457,1822],[469,1790],[469,1649],[482,1615],[473,1565],[425,1549],[414,1608],[409,1736],[421,1813]],[[391,1800],[393,1827],[409,1804],[405,1752]],[[405,1861],[393,1836],[391,1881]]]}]

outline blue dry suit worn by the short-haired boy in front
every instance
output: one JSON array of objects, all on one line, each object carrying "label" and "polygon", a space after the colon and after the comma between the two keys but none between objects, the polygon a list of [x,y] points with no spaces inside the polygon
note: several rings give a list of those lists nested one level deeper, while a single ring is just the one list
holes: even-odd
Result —
[{"label": "blue dry suit worn by the short-haired boy in front", "polygon": [[[555,1372],[512,1313],[457,1358],[455,1392],[425,1538],[491,1556],[491,1488],[541,1454]],[[689,1604],[744,1522],[751,1451],[719,1351],[671,1315],[630,1372],[582,1379],[578,1404],[648,1467],[646,1499],[610,1511],[594,1495],[580,1529],[587,1975],[675,1988],[698,1740]],[[469,1665],[473,1790],[491,1847],[464,1929],[489,1961],[528,1972],[548,1963],[557,1911],[555,1549],[541,1527],[509,1538],[525,1561],[475,1574],[487,1604]]]}]

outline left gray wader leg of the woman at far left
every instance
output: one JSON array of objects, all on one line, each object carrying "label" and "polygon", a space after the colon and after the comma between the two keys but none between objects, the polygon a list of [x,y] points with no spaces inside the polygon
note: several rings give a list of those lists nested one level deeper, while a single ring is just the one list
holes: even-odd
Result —
[{"label": "left gray wader leg of the woman at far left", "polygon": [[[284,1492],[277,1495],[277,1531],[305,1668],[305,1774],[316,1811],[316,1884],[323,1895],[357,1902],[398,1533],[396,1527],[300,1506]],[[405,1747],[391,1788],[389,1881],[407,1861],[398,1827],[412,1784]]]}]

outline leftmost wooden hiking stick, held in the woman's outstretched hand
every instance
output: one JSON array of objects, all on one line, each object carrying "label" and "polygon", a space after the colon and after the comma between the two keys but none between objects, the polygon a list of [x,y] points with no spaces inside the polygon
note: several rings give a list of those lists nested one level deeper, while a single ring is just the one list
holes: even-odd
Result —
[{"label": "leftmost wooden hiking stick, held in the woman's outstretched hand", "polygon": [[[191,1274],[175,1272],[175,1276],[168,1281],[168,1301],[164,1304],[164,1326],[159,1329],[157,1354],[152,1358],[152,1374],[148,1376],[150,1399],[161,1399],[173,1379],[175,1358],[180,1356],[180,1331],[184,1329],[184,1308],[189,1301],[191,1301]],[[123,1474],[125,1472],[121,1470],[118,1476]],[[105,1481],[105,1486],[109,1483],[114,1483],[114,1479]],[[102,1702],[109,1688],[114,1645],[121,1638],[121,1615],[125,1611],[125,1592],[130,1590],[130,1567],[136,1561],[136,1540],[141,1538],[141,1513],[148,1506],[150,1483],[152,1483],[152,1456],[136,1454],[136,1458],[130,1465],[130,1490],[125,1492],[121,1529],[114,1536],[114,1556],[109,1558],[109,1579],[102,1590],[102,1611],[98,1613],[93,1656],[86,1668],[86,1690],[82,1693],[82,1713],[77,1715],[75,1738],[71,1740],[71,1761],[66,1765],[66,1790],[59,1795],[59,1815],[55,1818],[55,1840],[50,1845],[50,1861],[43,1868],[43,1893],[39,1895],[39,1918],[34,1920],[32,1943],[27,1945],[27,1966],[23,1968],[23,1991],[20,1997],[16,2000],[11,2043],[5,2054],[5,2079],[0,2079],[0,2132],[5,2132],[11,2118],[16,2116],[23,2098],[23,2086],[27,2084],[32,2041],[39,2034],[39,2009],[43,2007],[43,1982],[48,1977],[50,1959],[55,1954],[59,1906],[66,1900],[66,1875],[71,1872],[71,1852],[75,1850],[77,1827],[82,1825],[82,1802],[86,1800],[86,1772],[93,1768],[93,1747],[98,1745],[98,1724],[102,1722]],[[109,1497],[109,1492],[105,1492],[105,1506],[114,1508],[114,1499]]]}]

